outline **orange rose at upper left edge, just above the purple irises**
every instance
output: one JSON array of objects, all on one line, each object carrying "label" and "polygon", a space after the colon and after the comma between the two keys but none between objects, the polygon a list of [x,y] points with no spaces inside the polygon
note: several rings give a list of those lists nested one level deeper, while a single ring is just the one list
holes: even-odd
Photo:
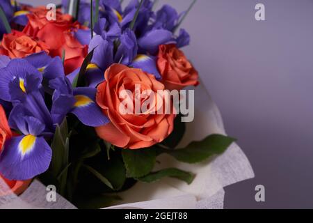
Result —
[{"label": "orange rose at upper left edge, just above the purple irises", "polygon": [[49,54],[49,47],[42,41],[33,40],[25,33],[13,30],[12,33],[3,35],[1,54],[10,56],[10,58],[23,58],[41,51]]}]

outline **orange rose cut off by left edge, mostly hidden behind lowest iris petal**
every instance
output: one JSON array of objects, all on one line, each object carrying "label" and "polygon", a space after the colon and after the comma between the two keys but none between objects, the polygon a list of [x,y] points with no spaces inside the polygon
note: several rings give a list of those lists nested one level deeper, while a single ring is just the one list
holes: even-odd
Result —
[{"label": "orange rose cut off by left edge, mostly hidden behind lowest iris petal", "polygon": [[[6,119],[6,113],[3,110],[3,107],[0,105],[0,153],[2,151],[2,148],[4,144],[6,143],[6,140],[13,137],[13,133],[10,130],[10,127],[8,125],[8,120]],[[11,192],[14,192],[15,194],[21,194],[26,190],[26,188],[29,186],[29,183],[31,183],[31,180],[8,180],[1,176],[0,178],[3,179],[8,186],[11,189]],[[0,196],[3,196],[6,194],[0,194]]]}]

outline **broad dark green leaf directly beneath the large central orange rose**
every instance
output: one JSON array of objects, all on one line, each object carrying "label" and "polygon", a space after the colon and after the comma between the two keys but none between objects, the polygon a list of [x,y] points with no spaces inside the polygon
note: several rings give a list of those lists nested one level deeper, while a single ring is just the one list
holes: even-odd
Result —
[{"label": "broad dark green leaf directly beneath the large central orange rose", "polygon": [[139,150],[122,150],[122,157],[127,170],[127,176],[141,178],[149,174],[156,162],[157,153],[154,148]]}]

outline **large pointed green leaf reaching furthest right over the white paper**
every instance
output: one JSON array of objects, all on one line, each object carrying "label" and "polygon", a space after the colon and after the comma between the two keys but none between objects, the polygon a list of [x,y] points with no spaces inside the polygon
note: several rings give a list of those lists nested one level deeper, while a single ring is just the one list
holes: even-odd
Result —
[{"label": "large pointed green leaf reaching furthest right over the white paper", "polygon": [[226,137],[221,134],[212,134],[202,141],[194,141],[186,148],[175,149],[173,151],[163,150],[177,160],[186,163],[198,163],[207,160],[212,155],[223,153],[236,139]]}]

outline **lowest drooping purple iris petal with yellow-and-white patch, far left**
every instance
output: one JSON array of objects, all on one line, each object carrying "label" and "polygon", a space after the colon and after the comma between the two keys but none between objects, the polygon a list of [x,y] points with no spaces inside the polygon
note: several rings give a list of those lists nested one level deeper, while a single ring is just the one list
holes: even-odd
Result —
[{"label": "lowest drooping purple iris petal with yellow-and-white patch, far left", "polygon": [[49,168],[52,151],[44,138],[45,124],[16,105],[10,125],[22,132],[6,142],[0,155],[0,172],[10,180],[28,180]]}]

